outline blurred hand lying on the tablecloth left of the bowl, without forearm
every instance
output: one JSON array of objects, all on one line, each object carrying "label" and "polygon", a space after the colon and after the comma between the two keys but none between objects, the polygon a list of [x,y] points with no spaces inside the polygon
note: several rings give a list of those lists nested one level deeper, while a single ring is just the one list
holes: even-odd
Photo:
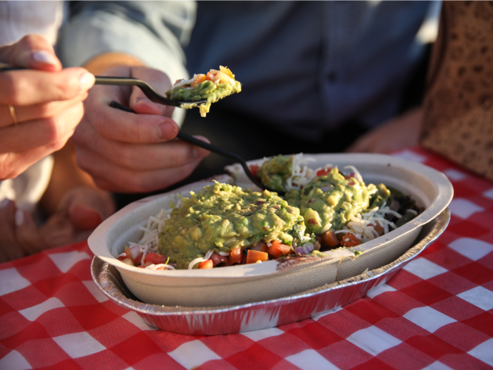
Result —
[{"label": "blurred hand lying on the tablecloth left of the bowl, without forearm", "polygon": [[29,213],[4,199],[0,205],[0,262],[86,240],[114,210],[108,193],[77,187],[63,197],[56,213],[37,228]]}]

